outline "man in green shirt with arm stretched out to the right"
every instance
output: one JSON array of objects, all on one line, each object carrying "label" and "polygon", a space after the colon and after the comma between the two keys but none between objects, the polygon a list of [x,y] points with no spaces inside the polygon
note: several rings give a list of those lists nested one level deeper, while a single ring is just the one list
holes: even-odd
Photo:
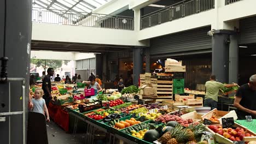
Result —
[{"label": "man in green shirt with arm stretched out to the right", "polygon": [[218,94],[219,94],[219,89],[224,88],[224,87],[234,87],[237,86],[237,84],[223,84],[221,82],[216,81],[216,76],[211,75],[210,76],[210,81],[207,81],[205,83],[205,88],[206,88],[206,94],[205,94],[205,107],[211,107],[211,109],[217,108],[217,101],[218,101]]}]

